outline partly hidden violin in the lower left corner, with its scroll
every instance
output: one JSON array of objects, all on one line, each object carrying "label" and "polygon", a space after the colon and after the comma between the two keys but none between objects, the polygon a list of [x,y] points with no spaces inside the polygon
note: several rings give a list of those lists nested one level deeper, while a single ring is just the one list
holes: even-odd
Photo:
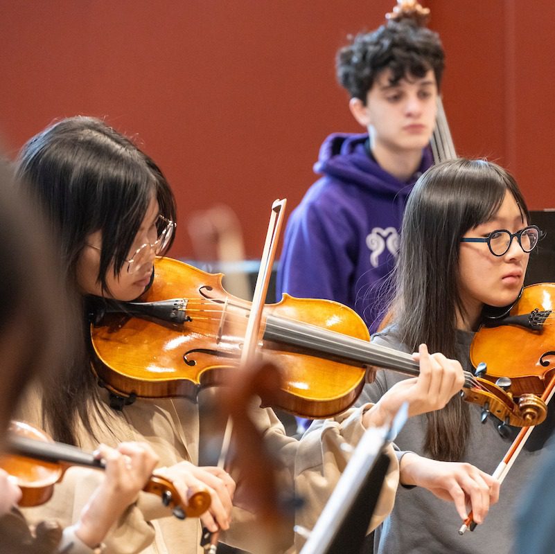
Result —
[{"label": "partly hidden violin in the lower left corner, with its scroll", "polygon": [[[8,428],[9,454],[0,456],[0,468],[17,479],[21,488],[19,506],[39,506],[48,501],[55,483],[62,480],[65,471],[72,465],[104,469],[103,461],[93,454],[71,445],[55,443],[46,433],[22,422],[11,422]],[[210,507],[211,498],[205,490],[191,492],[187,506],[173,483],[168,479],[152,475],[143,488],[161,497],[164,506],[173,509],[179,519],[200,517]]]}]

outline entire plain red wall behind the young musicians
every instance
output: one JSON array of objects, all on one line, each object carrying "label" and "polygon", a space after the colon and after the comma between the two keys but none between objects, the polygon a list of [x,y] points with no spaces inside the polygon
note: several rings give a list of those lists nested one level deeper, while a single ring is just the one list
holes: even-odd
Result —
[{"label": "entire plain red wall behind the young musicians", "polygon": [[[393,0],[32,0],[0,3],[0,129],[10,155],[54,118],[104,116],[166,172],[174,256],[193,256],[191,211],[229,204],[259,256],[270,204],[290,211],[329,132],[357,130],[333,59]],[[455,145],[509,166],[532,208],[555,206],[555,6],[430,0],[447,51]],[[526,9],[525,9],[526,8]]]}]

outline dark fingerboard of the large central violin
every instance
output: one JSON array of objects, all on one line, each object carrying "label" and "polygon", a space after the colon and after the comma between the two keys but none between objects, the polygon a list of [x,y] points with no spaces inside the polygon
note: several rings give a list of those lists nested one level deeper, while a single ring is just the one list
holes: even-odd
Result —
[{"label": "dark fingerboard of the large central violin", "polygon": [[420,373],[419,364],[405,352],[292,319],[267,316],[264,339],[311,350],[315,355],[353,366],[389,368],[412,376]]}]

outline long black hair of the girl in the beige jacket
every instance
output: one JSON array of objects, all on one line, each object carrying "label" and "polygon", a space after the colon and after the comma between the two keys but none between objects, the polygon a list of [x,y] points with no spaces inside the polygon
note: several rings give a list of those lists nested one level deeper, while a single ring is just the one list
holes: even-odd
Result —
[{"label": "long black hair of the girl in the beige jacket", "polygon": [[[97,280],[107,291],[107,271],[112,264],[114,276],[121,271],[152,197],[161,215],[176,220],[175,198],[159,167],[132,141],[96,118],[77,116],[47,127],[24,145],[17,170],[46,210],[60,240],[62,271],[73,290],[90,233],[102,233]],[[78,310],[84,311],[82,306]],[[99,405],[85,348],[88,328],[82,321],[84,348],[64,369],[59,386],[44,391],[43,401],[47,427],[55,438],[70,444],[76,444],[77,417],[94,436],[88,401]]]}]

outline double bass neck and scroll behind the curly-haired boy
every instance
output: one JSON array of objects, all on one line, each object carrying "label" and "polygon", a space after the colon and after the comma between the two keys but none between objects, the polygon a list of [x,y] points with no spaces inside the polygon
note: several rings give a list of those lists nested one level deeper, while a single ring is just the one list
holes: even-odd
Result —
[{"label": "double bass neck and scroll behind the curly-haired boy", "polygon": [[[411,19],[419,27],[425,27],[428,19],[430,19],[430,9],[423,8],[416,0],[397,0],[397,6],[385,15],[385,19],[398,22],[403,21],[403,19]],[[430,145],[432,147],[434,163],[457,158],[440,94],[437,95],[436,126],[434,127]]]}]

